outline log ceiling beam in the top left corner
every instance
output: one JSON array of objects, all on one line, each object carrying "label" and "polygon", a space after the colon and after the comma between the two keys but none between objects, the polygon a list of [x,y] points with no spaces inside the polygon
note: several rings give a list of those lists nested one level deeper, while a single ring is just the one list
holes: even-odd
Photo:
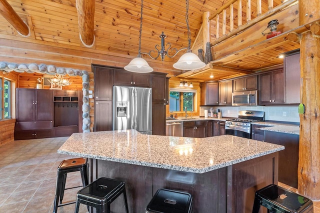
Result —
[{"label": "log ceiling beam in the top left corner", "polygon": [[6,0],[0,0],[0,14],[23,36],[29,36],[29,27]]}]

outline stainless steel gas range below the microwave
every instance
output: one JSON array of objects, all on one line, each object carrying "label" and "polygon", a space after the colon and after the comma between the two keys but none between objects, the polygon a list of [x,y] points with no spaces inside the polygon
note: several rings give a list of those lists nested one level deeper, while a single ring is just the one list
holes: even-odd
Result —
[{"label": "stainless steel gas range below the microwave", "polygon": [[264,121],[264,111],[241,110],[238,118],[225,120],[225,134],[251,138],[251,123]]}]

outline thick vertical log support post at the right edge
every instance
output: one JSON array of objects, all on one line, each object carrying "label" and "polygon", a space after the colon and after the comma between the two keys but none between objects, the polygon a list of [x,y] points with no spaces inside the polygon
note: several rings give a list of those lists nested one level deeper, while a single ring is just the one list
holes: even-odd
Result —
[{"label": "thick vertical log support post at the right edge", "polygon": [[[299,0],[299,25],[319,18],[317,1]],[[298,162],[298,193],[320,200],[320,37],[318,25],[300,39],[301,102]],[[313,29],[312,29],[313,28]]]}]

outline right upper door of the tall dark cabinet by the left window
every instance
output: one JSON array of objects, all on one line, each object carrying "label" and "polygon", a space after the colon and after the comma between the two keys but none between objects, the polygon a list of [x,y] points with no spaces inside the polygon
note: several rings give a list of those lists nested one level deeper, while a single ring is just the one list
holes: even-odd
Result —
[{"label": "right upper door of the tall dark cabinet by the left window", "polygon": [[53,93],[50,89],[35,89],[34,120],[53,120]]}]

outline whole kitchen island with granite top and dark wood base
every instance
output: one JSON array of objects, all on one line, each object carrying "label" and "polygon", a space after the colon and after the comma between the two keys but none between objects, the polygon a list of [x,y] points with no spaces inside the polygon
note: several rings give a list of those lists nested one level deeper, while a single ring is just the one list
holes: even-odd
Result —
[{"label": "whole kitchen island with granite top and dark wood base", "polygon": [[[254,192],[277,183],[281,145],[221,135],[206,138],[135,130],[73,133],[58,153],[90,158],[90,179],[125,182],[130,212],[144,212],[158,188],[187,191],[194,212],[251,212]],[[111,205],[121,212],[122,197]]]}]

